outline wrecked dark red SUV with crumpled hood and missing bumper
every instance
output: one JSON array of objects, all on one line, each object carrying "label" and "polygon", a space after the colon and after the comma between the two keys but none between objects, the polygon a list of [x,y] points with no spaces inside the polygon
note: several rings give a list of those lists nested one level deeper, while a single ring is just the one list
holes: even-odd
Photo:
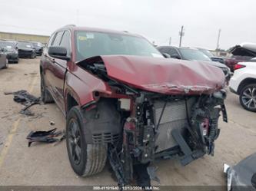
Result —
[{"label": "wrecked dark red SUV with crumpled hood and missing bumper", "polygon": [[66,143],[79,176],[109,160],[118,184],[150,185],[157,158],[183,165],[214,155],[225,77],[203,62],[165,59],[126,31],[68,25],[54,32],[40,63],[42,100],[66,117]]}]

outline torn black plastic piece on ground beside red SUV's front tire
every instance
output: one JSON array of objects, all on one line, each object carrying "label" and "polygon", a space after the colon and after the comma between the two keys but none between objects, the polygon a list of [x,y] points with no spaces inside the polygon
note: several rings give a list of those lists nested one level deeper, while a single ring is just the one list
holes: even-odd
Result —
[{"label": "torn black plastic piece on ground beside red SUV's front tire", "polygon": [[[55,143],[55,142],[61,142],[65,139],[65,133],[61,130],[56,131],[57,128],[54,128],[52,130],[48,131],[31,131],[28,136],[28,147],[31,146],[33,142],[42,142],[42,143]],[[58,139],[56,137],[62,135],[61,139]]]}]

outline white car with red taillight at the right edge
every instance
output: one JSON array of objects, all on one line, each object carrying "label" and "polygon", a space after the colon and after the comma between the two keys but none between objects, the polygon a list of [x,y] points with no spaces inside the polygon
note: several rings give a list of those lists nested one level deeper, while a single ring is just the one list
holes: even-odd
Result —
[{"label": "white car with red taillight at the right edge", "polygon": [[229,87],[245,110],[256,112],[256,58],[235,65]]}]

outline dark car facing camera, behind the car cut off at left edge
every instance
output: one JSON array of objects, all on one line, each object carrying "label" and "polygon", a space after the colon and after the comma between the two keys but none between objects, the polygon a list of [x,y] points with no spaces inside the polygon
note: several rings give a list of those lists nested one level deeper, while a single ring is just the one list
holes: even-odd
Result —
[{"label": "dark car facing camera, behind the car cut off at left edge", "polygon": [[2,51],[5,51],[8,63],[18,63],[17,41],[0,41]]}]

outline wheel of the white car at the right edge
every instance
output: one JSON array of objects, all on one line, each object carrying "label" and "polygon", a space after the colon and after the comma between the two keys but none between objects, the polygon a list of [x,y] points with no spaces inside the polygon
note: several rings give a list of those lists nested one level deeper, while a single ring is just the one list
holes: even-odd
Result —
[{"label": "wheel of the white car at the right edge", "polygon": [[240,104],[245,110],[256,112],[256,84],[248,84],[239,95]]}]

